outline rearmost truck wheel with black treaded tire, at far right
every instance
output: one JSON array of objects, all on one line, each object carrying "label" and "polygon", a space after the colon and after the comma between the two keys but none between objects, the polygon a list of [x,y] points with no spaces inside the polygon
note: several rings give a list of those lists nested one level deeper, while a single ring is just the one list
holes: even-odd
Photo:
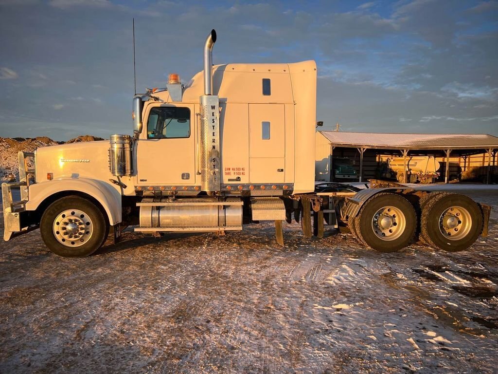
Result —
[{"label": "rearmost truck wheel with black treaded tire, at far right", "polygon": [[483,222],[481,207],[470,197],[442,192],[423,207],[420,236],[431,247],[463,251],[479,237]]}]

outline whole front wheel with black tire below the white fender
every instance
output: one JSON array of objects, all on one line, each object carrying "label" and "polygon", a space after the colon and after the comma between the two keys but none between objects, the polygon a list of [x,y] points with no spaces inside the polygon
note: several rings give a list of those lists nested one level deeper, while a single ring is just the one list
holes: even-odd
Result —
[{"label": "whole front wheel with black tire below the white fender", "polygon": [[40,232],[45,245],[55,254],[85,257],[104,244],[109,225],[94,203],[79,196],[66,196],[45,210]]}]

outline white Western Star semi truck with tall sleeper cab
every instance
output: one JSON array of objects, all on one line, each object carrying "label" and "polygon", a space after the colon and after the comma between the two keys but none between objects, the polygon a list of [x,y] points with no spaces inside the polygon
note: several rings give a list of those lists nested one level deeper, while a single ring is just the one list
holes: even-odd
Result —
[{"label": "white Western Star semi truck with tall sleeper cab", "polygon": [[347,227],[383,252],[416,235],[462,250],[486,234],[489,207],[460,194],[315,192],[315,62],[213,66],[215,42],[212,30],[204,70],[185,86],[171,74],[166,88],[134,96],[133,136],[20,153],[19,182],[2,184],[4,240],[40,228],[48,248],[74,257],[96,251],[111,228],[119,240],[128,225],[223,233],[270,220],[283,244],[292,215],[306,237]]}]

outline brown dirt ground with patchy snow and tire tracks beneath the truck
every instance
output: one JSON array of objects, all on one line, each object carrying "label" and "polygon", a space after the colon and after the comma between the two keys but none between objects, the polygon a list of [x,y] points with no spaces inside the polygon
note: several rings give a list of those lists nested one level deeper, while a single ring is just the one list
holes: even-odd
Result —
[{"label": "brown dirt ground with patchy snow and tire tracks beneath the truck", "polygon": [[[1,373],[497,373],[498,189],[490,235],[382,254],[332,231],[124,232],[57,257],[0,242]],[[0,229],[0,232],[2,229]]]}]

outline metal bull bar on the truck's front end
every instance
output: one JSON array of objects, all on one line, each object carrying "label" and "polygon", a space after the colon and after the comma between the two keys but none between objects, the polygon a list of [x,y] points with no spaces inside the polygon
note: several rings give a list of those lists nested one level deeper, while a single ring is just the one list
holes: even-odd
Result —
[{"label": "metal bull bar on the truck's front end", "polygon": [[[34,177],[34,157],[33,152],[19,152],[19,182],[2,183],[1,194],[3,204],[3,240],[9,240],[15,233],[25,233],[29,227],[21,227],[21,213],[25,211],[25,204],[28,201],[29,176]],[[33,168],[28,168],[28,158],[33,158]],[[19,187],[21,199],[14,201],[12,188]]]}]

